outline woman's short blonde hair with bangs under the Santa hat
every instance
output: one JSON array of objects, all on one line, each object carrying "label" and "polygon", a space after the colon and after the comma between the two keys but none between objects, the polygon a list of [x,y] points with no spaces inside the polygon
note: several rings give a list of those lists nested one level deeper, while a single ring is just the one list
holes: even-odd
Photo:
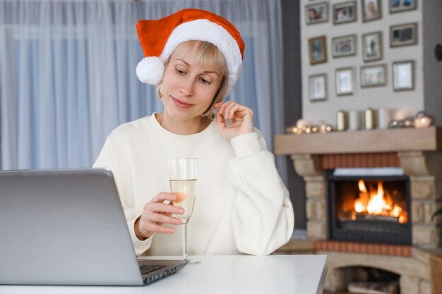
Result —
[{"label": "woman's short blonde hair with bangs under the Santa hat", "polygon": [[[221,102],[224,99],[227,85],[229,79],[227,75],[229,74],[229,70],[227,68],[227,61],[222,55],[220,49],[218,49],[214,44],[204,41],[196,41],[190,40],[186,42],[182,42],[174,49],[173,53],[170,54],[169,58],[165,62],[165,68],[169,64],[170,57],[175,54],[177,58],[185,59],[186,56],[193,55],[195,57],[196,64],[203,68],[210,68],[213,71],[216,71],[220,76],[222,76],[220,87],[215,93],[215,97],[213,97],[212,102],[208,109],[203,112],[203,115],[207,115],[210,119],[213,119],[213,104],[217,102]],[[160,93],[161,82],[157,85],[157,94],[158,97],[161,98]]]}]

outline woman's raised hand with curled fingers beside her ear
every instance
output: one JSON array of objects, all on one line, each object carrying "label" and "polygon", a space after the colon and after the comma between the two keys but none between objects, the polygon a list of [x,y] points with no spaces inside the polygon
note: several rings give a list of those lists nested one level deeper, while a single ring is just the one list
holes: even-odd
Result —
[{"label": "woman's raised hand with curled fingers beside her ear", "polygon": [[[216,123],[220,129],[222,137],[227,140],[253,132],[253,111],[237,102],[227,101],[215,103]],[[226,125],[227,119],[232,120],[232,124]]]}]

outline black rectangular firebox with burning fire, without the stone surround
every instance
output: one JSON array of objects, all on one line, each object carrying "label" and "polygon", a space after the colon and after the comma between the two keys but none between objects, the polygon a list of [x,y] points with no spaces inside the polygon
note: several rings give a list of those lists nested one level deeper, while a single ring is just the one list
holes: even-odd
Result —
[{"label": "black rectangular firebox with burning fire, without the stone surround", "polygon": [[411,245],[408,177],[339,172],[327,173],[330,240]]}]

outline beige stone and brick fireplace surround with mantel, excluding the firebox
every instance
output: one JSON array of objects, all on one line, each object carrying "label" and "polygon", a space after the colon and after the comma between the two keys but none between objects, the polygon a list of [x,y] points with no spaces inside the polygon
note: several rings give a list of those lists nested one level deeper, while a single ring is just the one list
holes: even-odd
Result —
[{"label": "beige stone and brick fireplace surround with mantel, excluding the firebox", "polygon": [[[275,136],[275,154],[290,155],[306,185],[304,250],[328,255],[325,289],[345,289],[351,267],[400,275],[401,294],[431,293],[431,252],[440,250],[442,128],[392,129]],[[412,245],[369,245],[328,240],[325,170],[401,167],[410,178]],[[308,244],[308,245],[306,245]],[[302,247],[302,246],[301,246]]]}]

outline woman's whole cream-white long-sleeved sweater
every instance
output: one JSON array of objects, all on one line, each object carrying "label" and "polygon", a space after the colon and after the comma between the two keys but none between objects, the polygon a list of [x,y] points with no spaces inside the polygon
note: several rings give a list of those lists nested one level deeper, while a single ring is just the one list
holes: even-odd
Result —
[{"label": "woman's whole cream-white long-sleeved sweater", "polygon": [[125,123],[107,137],[94,167],[114,173],[136,254],[181,255],[181,229],[136,238],[133,223],[158,192],[169,192],[169,157],[198,158],[193,215],[187,225],[189,255],[268,255],[292,235],[294,215],[273,154],[263,136],[230,142],[216,122],[201,133],[176,135],[155,115]]}]

